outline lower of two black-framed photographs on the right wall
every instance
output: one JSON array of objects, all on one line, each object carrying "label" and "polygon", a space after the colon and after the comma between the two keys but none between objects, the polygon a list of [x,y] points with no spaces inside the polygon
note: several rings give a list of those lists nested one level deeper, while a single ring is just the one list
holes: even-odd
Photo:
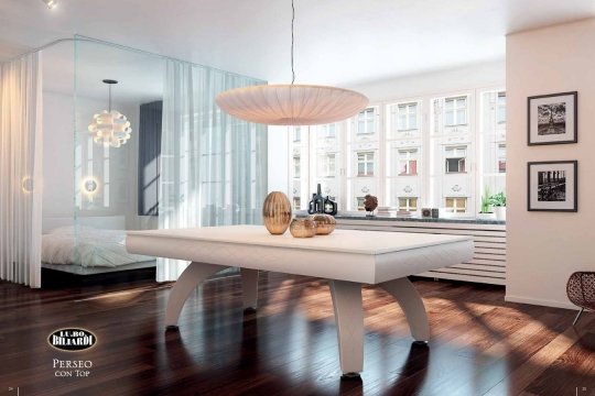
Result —
[{"label": "lower of two black-framed photographs on the right wall", "polygon": [[577,211],[577,161],[530,162],[527,165],[527,210]]}]

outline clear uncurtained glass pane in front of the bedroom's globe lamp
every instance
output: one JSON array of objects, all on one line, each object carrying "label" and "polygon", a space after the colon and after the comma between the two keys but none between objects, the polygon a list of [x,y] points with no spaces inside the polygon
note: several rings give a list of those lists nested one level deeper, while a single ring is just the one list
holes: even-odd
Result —
[{"label": "clear uncurtained glass pane in front of the bedroom's globe lamp", "polygon": [[126,230],[158,227],[164,59],[74,41],[75,263],[152,263],[128,254]]}]

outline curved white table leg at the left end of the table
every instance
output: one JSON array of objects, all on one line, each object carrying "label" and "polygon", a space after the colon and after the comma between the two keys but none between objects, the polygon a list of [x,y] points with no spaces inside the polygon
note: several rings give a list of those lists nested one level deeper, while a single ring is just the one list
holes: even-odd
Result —
[{"label": "curved white table leg at the left end of the table", "polygon": [[186,270],[180,275],[167,299],[167,307],[165,308],[165,326],[169,328],[177,327],[177,319],[184,302],[188,299],[192,290],[202,284],[207,277],[228,268],[223,265],[206,264],[192,262]]}]

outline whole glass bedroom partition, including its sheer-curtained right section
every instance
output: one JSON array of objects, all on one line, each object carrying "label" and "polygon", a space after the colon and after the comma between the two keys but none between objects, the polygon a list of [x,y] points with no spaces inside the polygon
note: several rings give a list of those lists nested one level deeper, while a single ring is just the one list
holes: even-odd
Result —
[{"label": "whole glass bedroom partition, including its sheer-curtained right section", "polygon": [[[77,262],[154,263],[126,252],[125,230],[261,222],[267,129],[215,97],[263,81],[86,37],[74,64]],[[186,265],[161,264],[159,280]]]}]

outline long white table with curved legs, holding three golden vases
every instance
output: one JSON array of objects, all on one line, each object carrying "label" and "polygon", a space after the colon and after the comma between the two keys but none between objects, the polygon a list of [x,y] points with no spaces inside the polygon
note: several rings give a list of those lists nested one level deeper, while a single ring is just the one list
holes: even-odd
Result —
[{"label": "long white table with curved legs, holding three golden vases", "polygon": [[[467,237],[337,230],[328,237],[296,240],[269,235],[263,230],[235,226],[133,231],[128,233],[127,248],[130,253],[192,262],[170,294],[165,309],[167,327],[177,327],[182,308],[198,285],[230,266],[240,267],[245,309],[257,308],[259,270],[328,279],[340,370],[346,376],[357,376],[364,370],[363,284],[380,286],[393,296],[413,339],[426,342],[430,326],[425,308],[407,276],[473,256],[473,241]],[[400,260],[396,262],[397,258]]]}]

